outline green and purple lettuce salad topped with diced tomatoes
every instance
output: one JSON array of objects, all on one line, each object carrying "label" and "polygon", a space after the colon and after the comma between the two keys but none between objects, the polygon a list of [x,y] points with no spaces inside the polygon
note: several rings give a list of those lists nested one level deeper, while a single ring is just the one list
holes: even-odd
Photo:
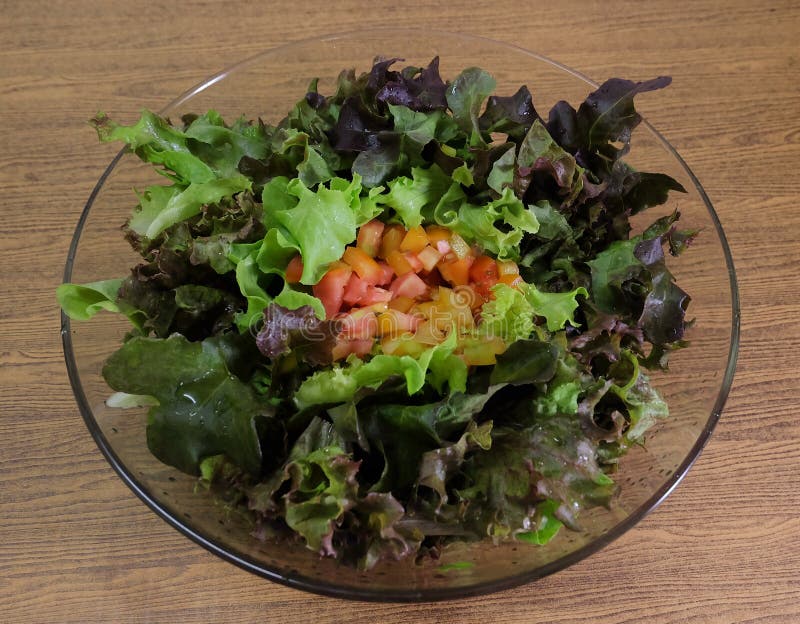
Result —
[{"label": "green and purple lettuce salad topped with diced tomatoes", "polygon": [[270,126],[149,111],[122,141],[166,184],[124,226],[130,275],[64,284],[73,319],[132,329],[110,404],[147,406],[162,462],[287,535],[370,568],[454,540],[544,544],[608,506],[619,459],[668,414],[648,369],[684,347],[666,249],[681,185],[623,157],[611,79],[543,118],[468,68],[342,72]]}]

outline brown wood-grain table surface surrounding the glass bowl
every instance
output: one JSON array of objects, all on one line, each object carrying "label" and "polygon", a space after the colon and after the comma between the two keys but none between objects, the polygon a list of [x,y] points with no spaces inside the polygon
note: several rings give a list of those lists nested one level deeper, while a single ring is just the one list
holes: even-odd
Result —
[{"label": "brown wood-grain table surface surrounding the glass bowl", "polygon": [[[321,18],[334,4],[0,3],[0,620],[800,621],[800,5],[343,0]],[[651,121],[715,203],[742,295],[727,408],[656,512],[535,584],[403,607],[268,583],[159,520],[81,421],[53,296],[116,149],[97,143],[87,117],[130,119],[263,48],[387,23],[514,42],[596,79],[671,74],[672,113]]]}]

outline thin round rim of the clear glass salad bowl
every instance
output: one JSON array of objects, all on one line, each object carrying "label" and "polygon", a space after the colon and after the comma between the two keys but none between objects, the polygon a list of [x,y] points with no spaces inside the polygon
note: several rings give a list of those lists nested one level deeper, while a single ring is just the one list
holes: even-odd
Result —
[{"label": "thin round rim of the clear glass salad bowl", "polygon": [[[495,39],[490,39],[488,37],[469,35],[464,33],[440,31],[440,30],[418,29],[418,28],[415,29],[369,28],[361,30],[350,30],[341,33],[331,33],[316,37],[309,37],[306,39],[292,41],[280,46],[263,50],[226,69],[223,69],[222,71],[214,74],[213,76],[187,89],[184,93],[179,95],[172,102],[170,102],[164,109],[162,109],[161,112],[165,113],[168,112],[170,109],[180,106],[194,95],[197,95],[202,91],[205,91],[206,89],[220,82],[233,72],[248,67],[249,65],[252,65],[254,63],[257,63],[263,60],[265,57],[268,57],[269,55],[274,54],[278,51],[285,51],[287,49],[291,49],[292,47],[301,47],[303,45],[313,42],[335,41],[336,39],[341,39],[341,38],[375,35],[381,32],[392,33],[394,35],[406,32],[409,35],[413,34],[414,36],[430,35],[430,36],[443,36],[450,38],[457,37],[457,38],[463,38],[466,41],[472,40],[476,42],[492,44],[498,47],[504,47],[509,51],[525,54],[543,63],[551,65],[552,67],[563,70],[569,74],[572,74],[576,78],[586,82],[587,85],[593,88],[597,88],[599,86],[598,83],[591,80],[587,76],[565,65],[562,65],[557,61],[553,61],[552,59],[549,59],[545,56],[542,56],[540,54],[537,54],[520,46],[509,44],[503,41],[497,41]],[[603,534],[601,537],[593,540],[589,544],[586,544],[582,548],[579,548],[578,550],[575,550],[559,559],[551,561],[550,563],[544,566],[536,568],[535,570],[527,571],[524,573],[512,574],[502,579],[476,583],[474,585],[466,587],[436,588],[432,590],[397,589],[391,591],[386,591],[386,590],[373,591],[369,590],[368,588],[340,587],[333,582],[322,582],[316,579],[310,579],[300,575],[290,574],[287,571],[278,569],[277,567],[269,567],[262,563],[259,563],[242,553],[238,553],[226,547],[224,544],[220,543],[217,540],[213,540],[204,536],[202,533],[195,530],[193,527],[187,525],[180,517],[170,513],[169,510],[165,509],[159,504],[159,502],[150,494],[148,489],[142,483],[140,483],[134,476],[134,474],[131,471],[129,471],[128,468],[120,461],[119,457],[114,452],[113,446],[109,443],[108,439],[105,437],[102,430],[100,429],[100,426],[95,420],[91,406],[89,405],[88,399],[86,398],[86,395],[84,393],[83,385],[80,379],[78,364],[75,359],[75,352],[73,350],[73,345],[72,345],[70,320],[62,311],[61,340],[64,349],[64,359],[66,362],[67,373],[69,376],[70,384],[72,385],[73,393],[75,394],[75,400],[78,404],[78,408],[80,409],[81,415],[83,416],[83,420],[86,423],[86,427],[89,429],[92,438],[94,438],[95,443],[97,444],[98,448],[105,456],[105,458],[108,460],[108,462],[111,464],[112,468],[117,472],[117,474],[120,476],[123,482],[134,492],[134,494],[136,494],[136,496],[138,496],[159,517],[161,517],[169,525],[180,531],[183,535],[185,535],[195,543],[199,544],[203,548],[207,549],[208,551],[221,557],[222,559],[230,563],[233,563],[239,566],[240,568],[247,570],[248,572],[252,572],[256,575],[259,575],[263,578],[266,578],[270,581],[274,581],[276,583],[281,583],[283,585],[287,585],[295,589],[310,591],[317,594],[333,596],[337,598],[346,598],[351,600],[366,600],[366,601],[379,601],[379,602],[428,602],[428,601],[440,601],[440,600],[453,600],[458,598],[466,598],[470,596],[492,593],[504,589],[510,589],[525,583],[532,582],[536,579],[558,572],[559,570],[562,570],[574,563],[577,563],[578,561],[599,551],[601,548],[604,548],[605,546],[613,542],[615,539],[620,537],[622,534],[624,534],[626,531],[628,531],[630,528],[632,528],[634,525],[636,525],[642,518],[644,518],[648,513],[653,511],[664,499],[666,499],[667,496],[669,496],[670,493],[675,489],[675,487],[681,482],[681,480],[686,475],[688,470],[692,467],[692,464],[694,464],[694,462],[697,460],[703,448],[705,447],[706,443],[708,442],[711,433],[713,432],[714,427],[716,426],[722,414],[722,409],[725,405],[725,401],[728,398],[728,393],[730,392],[730,388],[733,383],[734,373],[736,370],[736,361],[739,353],[739,316],[740,316],[739,291],[736,281],[736,272],[733,265],[733,257],[731,255],[731,251],[728,246],[728,241],[725,236],[725,232],[722,229],[722,224],[720,223],[719,217],[717,216],[717,213],[714,210],[714,207],[712,206],[711,201],[708,198],[708,195],[706,194],[705,190],[700,184],[700,181],[691,171],[691,169],[683,160],[681,155],[655,128],[653,128],[650,125],[650,123],[646,119],[643,119],[642,126],[648,128],[648,130],[653,134],[653,136],[656,137],[661,142],[662,146],[678,161],[681,167],[683,167],[684,171],[691,179],[692,183],[695,186],[695,189],[697,190],[698,194],[703,200],[703,203],[706,206],[708,214],[711,217],[711,221],[714,224],[716,234],[719,237],[719,241],[722,245],[722,250],[725,257],[725,263],[728,269],[728,280],[731,292],[730,347],[728,351],[728,361],[725,367],[725,373],[722,378],[722,383],[720,385],[720,389],[717,394],[717,398],[714,403],[713,409],[700,435],[698,436],[697,440],[695,441],[694,445],[692,446],[692,448],[690,449],[684,460],[681,462],[681,464],[678,466],[675,472],[662,484],[662,486],[658,490],[656,490],[647,501],[641,504],[633,513],[631,513],[627,518],[625,518],[625,520],[615,525],[610,531]],[[80,241],[81,234],[83,232],[83,227],[89,216],[89,211],[91,210],[91,207],[94,204],[94,201],[97,195],[99,194],[101,188],[103,187],[106,179],[109,177],[114,167],[116,167],[117,163],[119,163],[120,159],[125,155],[125,153],[126,150],[123,149],[114,157],[114,159],[108,165],[106,170],[100,176],[100,179],[97,181],[97,184],[95,185],[94,189],[89,195],[89,199],[87,200],[86,206],[84,207],[80,215],[80,218],[78,219],[78,223],[75,228],[72,241],[70,243],[69,251],[67,254],[67,261],[64,267],[64,278],[63,278],[64,282],[69,282],[72,278],[73,262],[75,259],[75,255],[77,253],[78,243]]]}]

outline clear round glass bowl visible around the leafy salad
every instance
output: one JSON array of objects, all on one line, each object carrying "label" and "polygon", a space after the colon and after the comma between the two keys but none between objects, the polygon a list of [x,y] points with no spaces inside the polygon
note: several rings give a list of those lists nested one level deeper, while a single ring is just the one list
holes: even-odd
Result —
[{"label": "clear round glass bowl visible around the leafy salad", "polygon": [[[376,55],[398,56],[412,65],[426,65],[438,55],[445,78],[471,65],[483,67],[497,79],[499,94],[511,94],[527,84],[539,111],[549,110],[560,99],[577,105],[597,86],[563,65],[496,41],[417,29],[377,29],[268,50],[198,84],[162,113],[178,119],[183,113],[214,108],[226,119],[244,114],[277,122],[312,78],[320,78],[321,93],[331,93],[341,69],[364,71]],[[651,102],[659,97],[663,102],[660,94],[650,97]],[[648,97],[641,100],[639,108],[646,110]],[[647,122],[634,133],[627,160],[636,168],[668,173],[688,190],[686,195],[671,195],[667,204],[647,211],[643,219],[649,223],[678,208],[683,227],[701,230],[690,250],[671,263],[678,283],[692,296],[689,313],[696,322],[688,332],[691,347],[675,353],[669,373],[654,379],[671,417],[648,434],[644,446],[633,448],[622,460],[615,476],[621,486],[619,496],[610,510],[584,513],[582,532],[562,530],[546,546],[494,545],[488,540],[454,545],[438,561],[415,563],[408,558],[381,563],[369,572],[321,559],[301,545],[257,541],[235,513],[226,512],[211,496],[196,493],[195,479],[150,455],[144,410],[106,407],[110,390],[101,367],[128,329],[125,319],[116,315],[100,314],[90,323],[71,323],[62,315],[67,369],[86,425],[123,481],[169,524],[223,559],[291,587],[362,600],[441,600],[530,582],[580,561],[633,527],[686,474],[720,417],[738,347],[733,264],[703,188]],[[64,281],[84,283],[127,274],[138,256],[123,240],[120,226],[135,204],[132,189],[151,184],[153,178],[151,167],[134,156],[120,153],[114,158],[78,221]]]}]

